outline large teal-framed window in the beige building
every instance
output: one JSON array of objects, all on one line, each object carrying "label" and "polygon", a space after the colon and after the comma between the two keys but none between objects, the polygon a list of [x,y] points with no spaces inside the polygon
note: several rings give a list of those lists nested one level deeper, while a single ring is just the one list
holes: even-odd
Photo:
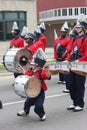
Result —
[{"label": "large teal-framed window in the beige building", "polygon": [[1,11],[0,12],[0,40],[10,40],[13,22],[16,21],[20,31],[26,25],[25,11]]}]

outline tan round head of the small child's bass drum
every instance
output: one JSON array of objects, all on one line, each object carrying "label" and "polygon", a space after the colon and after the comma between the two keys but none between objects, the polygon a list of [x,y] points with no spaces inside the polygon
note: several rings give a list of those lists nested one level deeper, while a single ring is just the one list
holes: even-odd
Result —
[{"label": "tan round head of the small child's bass drum", "polygon": [[41,91],[41,81],[36,77],[31,77],[26,86],[25,93],[30,98],[35,98],[39,95]]}]

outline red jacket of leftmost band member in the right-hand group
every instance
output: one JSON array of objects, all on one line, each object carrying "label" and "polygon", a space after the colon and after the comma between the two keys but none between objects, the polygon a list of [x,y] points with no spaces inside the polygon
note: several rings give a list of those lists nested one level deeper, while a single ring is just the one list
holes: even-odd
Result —
[{"label": "red jacket of leftmost band member in the right-hand group", "polygon": [[57,55],[57,52],[56,52],[56,46],[57,46],[57,44],[60,43],[64,48],[66,48],[69,42],[70,42],[70,39],[68,37],[65,37],[64,39],[61,39],[60,37],[58,37],[54,41],[54,58],[55,59],[58,58],[58,55]]}]

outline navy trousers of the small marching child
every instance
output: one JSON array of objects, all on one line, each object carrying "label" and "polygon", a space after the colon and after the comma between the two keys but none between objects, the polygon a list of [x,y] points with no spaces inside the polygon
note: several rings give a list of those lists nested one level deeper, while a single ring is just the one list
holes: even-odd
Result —
[{"label": "navy trousers of the small marching child", "polygon": [[35,105],[34,111],[35,113],[42,118],[45,114],[44,111],[44,99],[45,99],[45,93],[44,90],[41,90],[40,94],[36,98],[27,98],[24,104],[24,111],[26,114],[29,114],[30,107]]}]

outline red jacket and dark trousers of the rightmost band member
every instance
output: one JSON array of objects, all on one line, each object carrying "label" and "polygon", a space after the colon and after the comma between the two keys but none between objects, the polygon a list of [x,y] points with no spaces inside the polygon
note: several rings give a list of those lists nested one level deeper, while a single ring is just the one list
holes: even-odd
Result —
[{"label": "red jacket and dark trousers of the rightmost band member", "polygon": [[[69,49],[71,50],[67,57],[69,61],[87,61],[87,38],[84,35],[78,36],[70,44]],[[85,81],[85,76],[70,72],[70,96],[74,106],[84,107]]]}]

